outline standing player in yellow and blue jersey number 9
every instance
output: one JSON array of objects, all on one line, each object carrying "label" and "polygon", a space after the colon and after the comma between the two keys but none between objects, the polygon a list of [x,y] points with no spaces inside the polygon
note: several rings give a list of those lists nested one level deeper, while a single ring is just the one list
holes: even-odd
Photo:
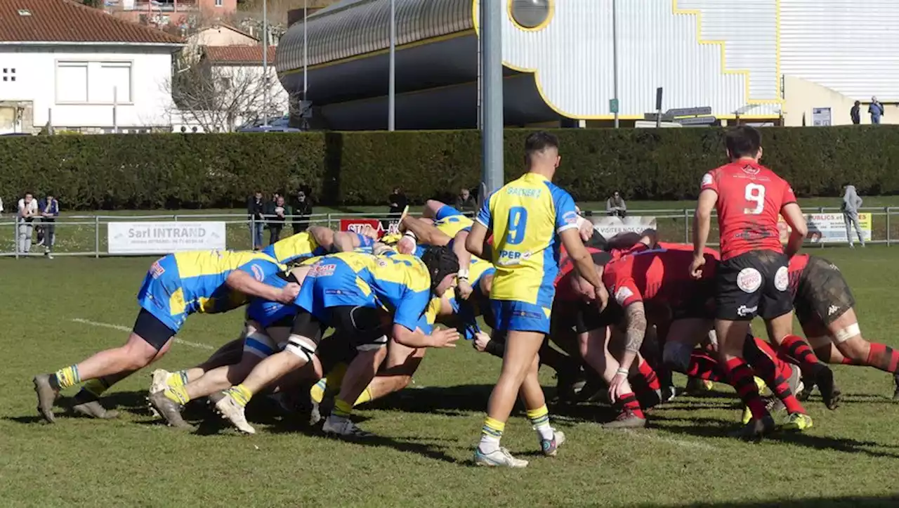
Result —
[{"label": "standing player in yellow and blue jersey number 9", "polygon": [[[558,140],[547,132],[533,133],[525,141],[525,154],[528,173],[484,201],[466,239],[467,250],[481,256],[488,232],[493,233],[496,273],[490,299],[496,330],[508,333],[503,370],[490,396],[481,441],[475,450],[475,463],[484,466],[528,465],[527,460],[515,459],[500,447],[519,392],[544,455],[556,455],[557,447],[565,441],[565,435],[549,424],[537,377],[538,351],[549,333],[560,238],[574,259],[575,269],[606,296],[578,234],[574,201],[552,183],[560,161]],[[599,301],[604,307],[608,297]]]}]

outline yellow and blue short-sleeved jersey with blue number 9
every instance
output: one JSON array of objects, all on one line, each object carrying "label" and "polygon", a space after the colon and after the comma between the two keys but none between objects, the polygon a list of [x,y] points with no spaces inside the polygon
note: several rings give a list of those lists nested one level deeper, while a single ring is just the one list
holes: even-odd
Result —
[{"label": "yellow and blue short-sleeved jersey with blue number 9", "polygon": [[571,195],[540,174],[524,174],[491,194],[476,220],[494,237],[490,298],[551,307],[558,234],[577,227]]}]

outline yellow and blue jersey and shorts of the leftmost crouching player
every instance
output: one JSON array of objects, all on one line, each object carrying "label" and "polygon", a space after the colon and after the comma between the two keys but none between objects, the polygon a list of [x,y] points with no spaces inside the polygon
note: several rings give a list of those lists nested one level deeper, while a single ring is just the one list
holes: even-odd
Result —
[{"label": "yellow and blue jersey and shorts of the leftmost crouching player", "polygon": [[177,333],[193,313],[226,312],[246,303],[245,294],[225,283],[231,272],[247,272],[264,281],[285,268],[267,254],[249,251],[168,254],[150,266],[138,291],[138,304]]}]

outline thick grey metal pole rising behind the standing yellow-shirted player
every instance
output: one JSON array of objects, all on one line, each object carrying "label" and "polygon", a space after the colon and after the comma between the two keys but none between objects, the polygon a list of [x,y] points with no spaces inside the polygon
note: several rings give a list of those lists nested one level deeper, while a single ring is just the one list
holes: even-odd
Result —
[{"label": "thick grey metal pole rising behind the standing yellow-shirted player", "polygon": [[503,186],[503,4],[497,0],[481,1],[481,53],[483,72],[481,101],[484,127],[481,129],[481,149],[484,162],[481,169],[481,195]]}]

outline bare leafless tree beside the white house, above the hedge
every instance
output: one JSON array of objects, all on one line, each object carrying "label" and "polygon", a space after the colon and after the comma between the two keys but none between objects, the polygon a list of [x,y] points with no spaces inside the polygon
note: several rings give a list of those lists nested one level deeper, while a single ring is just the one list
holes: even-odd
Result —
[{"label": "bare leafless tree beside the white house, above the hedge", "polygon": [[212,66],[201,59],[196,65],[176,69],[165,84],[165,92],[172,94],[174,102],[174,109],[168,112],[205,132],[231,132],[262,119],[266,112],[269,118],[284,113],[278,100],[271,100],[269,111],[264,111],[266,87],[270,99],[275,99],[281,86],[273,69],[263,76],[262,67]]}]

